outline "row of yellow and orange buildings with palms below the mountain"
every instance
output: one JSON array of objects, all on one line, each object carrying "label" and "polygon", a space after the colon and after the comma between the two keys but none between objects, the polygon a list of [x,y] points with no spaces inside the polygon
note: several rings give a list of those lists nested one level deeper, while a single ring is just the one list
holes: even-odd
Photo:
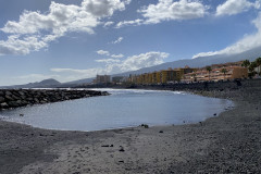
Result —
[{"label": "row of yellow and orange buildings with palms below the mountain", "polygon": [[145,74],[129,74],[125,76],[97,75],[92,84],[117,84],[123,83],[136,85],[175,84],[175,83],[200,83],[220,82],[239,78],[260,78],[261,58],[250,62],[248,60],[229,62],[223,64],[212,64],[206,67],[179,67],[161,70]]}]

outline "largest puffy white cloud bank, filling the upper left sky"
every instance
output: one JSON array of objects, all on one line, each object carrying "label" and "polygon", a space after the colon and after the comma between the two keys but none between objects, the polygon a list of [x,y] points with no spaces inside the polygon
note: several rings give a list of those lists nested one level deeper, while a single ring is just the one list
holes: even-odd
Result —
[{"label": "largest puffy white cloud bank, filling the upper left sky", "polygon": [[[94,28],[102,24],[101,20],[113,15],[114,11],[125,10],[129,0],[83,0],[80,5],[51,2],[49,12],[24,11],[18,22],[9,21],[0,30],[10,35],[0,40],[0,54],[28,54],[46,48],[50,41],[71,32],[94,34]],[[22,42],[16,49],[13,38]],[[35,39],[37,46],[24,42]]]}]

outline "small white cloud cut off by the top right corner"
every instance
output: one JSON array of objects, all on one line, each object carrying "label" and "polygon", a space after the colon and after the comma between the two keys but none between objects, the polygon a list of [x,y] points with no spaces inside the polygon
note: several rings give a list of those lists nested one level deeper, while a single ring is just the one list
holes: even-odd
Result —
[{"label": "small white cloud cut off by the top right corner", "polygon": [[227,0],[223,4],[220,4],[216,8],[216,16],[221,15],[234,15],[245,11],[250,10],[251,8],[259,9],[260,0],[256,2],[250,2],[248,0]]}]

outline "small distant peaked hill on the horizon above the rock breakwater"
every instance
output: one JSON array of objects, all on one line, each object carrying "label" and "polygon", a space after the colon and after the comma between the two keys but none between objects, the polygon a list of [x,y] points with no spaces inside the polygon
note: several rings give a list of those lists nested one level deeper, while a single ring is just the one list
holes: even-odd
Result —
[{"label": "small distant peaked hill on the horizon above the rock breakwater", "polygon": [[49,79],[41,80],[39,83],[37,82],[37,83],[29,83],[25,85],[3,86],[0,88],[54,88],[54,87],[59,87],[60,85],[61,85],[60,82],[53,78],[49,78]]}]

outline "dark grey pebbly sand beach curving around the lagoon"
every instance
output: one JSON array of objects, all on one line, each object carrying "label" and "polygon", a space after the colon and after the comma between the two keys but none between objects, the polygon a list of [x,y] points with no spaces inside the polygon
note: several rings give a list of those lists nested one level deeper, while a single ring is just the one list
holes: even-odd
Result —
[{"label": "dark grey pebbly sand beach curving around the lagoon", "polygon": [[0,121],[0,173],[261,173],[261,80],[195,92],[236,107],[201,124],[90,133]]}]

